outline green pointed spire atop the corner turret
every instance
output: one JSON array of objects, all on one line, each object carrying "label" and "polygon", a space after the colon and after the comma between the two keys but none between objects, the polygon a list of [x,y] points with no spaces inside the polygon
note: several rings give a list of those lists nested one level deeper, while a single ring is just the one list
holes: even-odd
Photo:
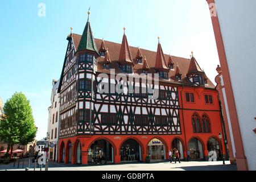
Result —
[{"label": "green pointed spire atop the corner turret", "polygon": [[88,11],[87,23],[85,25],[84,32],[82,33],[82,37],[79,43],[79,47],[77,48],[77,51],[88,50],[98,55],[98,49],[93,38],[92,28],[90,27],[89,15],[90,11]]}]

